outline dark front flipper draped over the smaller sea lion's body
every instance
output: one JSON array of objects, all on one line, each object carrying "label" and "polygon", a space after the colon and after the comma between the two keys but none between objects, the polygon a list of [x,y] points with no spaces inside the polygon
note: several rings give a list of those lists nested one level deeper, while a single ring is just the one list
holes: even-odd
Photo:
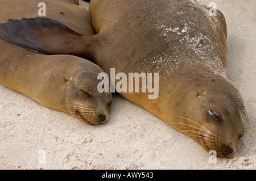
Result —
[{"label": "dark front flipper draped over the smaller sea lion's body", "polygon": [[0,24],[0,37],[46,54],[72,54],[93,60],[93,36],[84,36],[48,18],[10,19]]}]

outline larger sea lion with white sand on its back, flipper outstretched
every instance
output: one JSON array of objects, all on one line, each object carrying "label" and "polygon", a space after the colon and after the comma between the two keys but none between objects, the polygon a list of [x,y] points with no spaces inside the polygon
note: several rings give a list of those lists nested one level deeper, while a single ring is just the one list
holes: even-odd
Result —
[{"label": "larger sea lion with white sand on its back, flipper outstretched", "polygon": [[[205,150],[233,157],[245,130],[245,107],[238,90],[226,78],[224,15],[220,11],[212,15],[192,0],[92,0],[89,11],[96,35],[69,39],[71,44],[85,46],[84,52],[81,48],[67,50],[61,38],[57,39],[57,50],[51,41],[24,41],[38,40],[33,37],[36,33],[44,40],[48,31],[58,34],[59,28],[51,23],[47,28],[44,22],[41,31],[39,21],[30,24],[33,20],[28,19],[26,26],[9,22],[0,26],[0,36],[31,49],[48,49],[48,53],[92,57],[109,77],[111,68],[116,74],[159,73],[158,98],[148,99],[148,91],[123,91],[121,95],[184,132]],[[15,35],[16,27],[23,37]],[[71,35],[66,32],[65,37]],[[118,79],[121,77],[115,77],[115,83]]]}]

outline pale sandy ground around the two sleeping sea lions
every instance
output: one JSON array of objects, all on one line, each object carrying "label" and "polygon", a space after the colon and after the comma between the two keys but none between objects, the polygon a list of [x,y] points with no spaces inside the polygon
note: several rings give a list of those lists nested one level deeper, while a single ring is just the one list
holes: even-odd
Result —
[{"label": "pale sandy ground around the two sleeping sea lions", "polygon": [[255,169],[256,1],[214,2],[228,23],[228,77],[247,112],[234,158],[209,163],[195,141],[120,95],[108,123],[90,126],[0,85],[0,169]]}]

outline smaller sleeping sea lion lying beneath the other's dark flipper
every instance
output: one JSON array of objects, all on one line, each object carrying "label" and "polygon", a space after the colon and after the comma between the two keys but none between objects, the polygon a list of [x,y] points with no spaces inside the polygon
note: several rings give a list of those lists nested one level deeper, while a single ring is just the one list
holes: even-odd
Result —
[{"label": "smaller sleeping sea lion lying beneath the other's dark flipper", "polygon": [[[1,23],[10,18],[34,17],[39,2],[1,1]],[[48,3],[49,18],[64,20],[85,35],[94,34],[89,12],[73,1],[44,2]],[[102,72],[96,64],[80,57],[39,54],[0,39],[0,83],[3,86],[21,92],[45,107],[69,113],[87,124],[108,121],[112,95],[97,90],[100,82],[97,76]]]}]

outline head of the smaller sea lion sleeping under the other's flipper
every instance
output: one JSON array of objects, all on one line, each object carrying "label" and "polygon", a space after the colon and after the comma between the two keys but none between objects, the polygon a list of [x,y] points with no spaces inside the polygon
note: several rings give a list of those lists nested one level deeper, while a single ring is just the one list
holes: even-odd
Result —
[{"label": "head of the smaller sea lion sleeping under the other's flipper", "polygon": [[100,82],[97,75],[102,71],[96,65],[81,64],[73,71],[73,76],[63,78],[67,86],[65,104],[68,113],[86,124],[104,124],[109,118],[112,94],[97,90]]}]

